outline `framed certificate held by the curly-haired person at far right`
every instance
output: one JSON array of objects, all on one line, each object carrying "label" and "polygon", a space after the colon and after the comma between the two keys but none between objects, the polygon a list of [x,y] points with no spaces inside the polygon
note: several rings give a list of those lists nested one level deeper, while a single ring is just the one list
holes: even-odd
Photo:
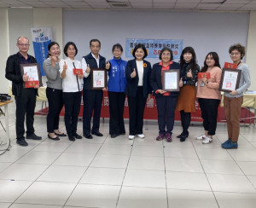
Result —
[{"label": "framed certificate held by the curly-haired person at far right", "polygon": [[240,69],[224,68],[221,74],[219,90],[224,92],[236,90],[239,86],[240,77]]}]

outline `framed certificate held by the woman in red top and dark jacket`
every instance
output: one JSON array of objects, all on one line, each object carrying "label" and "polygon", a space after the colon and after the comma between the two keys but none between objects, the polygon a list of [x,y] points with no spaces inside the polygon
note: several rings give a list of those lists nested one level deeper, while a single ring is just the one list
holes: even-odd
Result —
[{"label": "framed certificate held by the woman in red top and dark jacket", "polygon": [[163,90],[179,91],[179,69],[163,71]]}]

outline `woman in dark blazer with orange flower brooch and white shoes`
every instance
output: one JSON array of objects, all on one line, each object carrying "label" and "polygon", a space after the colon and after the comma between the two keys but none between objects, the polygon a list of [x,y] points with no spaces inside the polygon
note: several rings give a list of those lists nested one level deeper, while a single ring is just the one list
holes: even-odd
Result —
[{"label": "woman in dark blazer with orange flower brooch and white shoes", "polygon": [[132,55],[135,59],[128,61],[126,66],[127,84],[125,94],[128,96],[129,105],[129,139],[137,135],[143,135],[143,116],[146,101],[150,99],[151,86],[149,84],[151,65],[144,61],[148,53],[145,46],[138,43],[133,49]]}]

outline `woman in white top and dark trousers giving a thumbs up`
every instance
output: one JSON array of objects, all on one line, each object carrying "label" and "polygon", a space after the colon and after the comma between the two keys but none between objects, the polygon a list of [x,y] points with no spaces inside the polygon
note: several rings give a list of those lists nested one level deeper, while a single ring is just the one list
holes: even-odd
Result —
[{"label": "woman in white top and dark trousers giving a thumbs up", "polygon": [[77,125],[81,104],[81,91],[83,89],[83,74],[75,75],[74,68],[81,69],[81,62],[74,59],[78,49],[73,42],[68,42],[64,47],[67,59],[60,61],[60,73],[62,78],[63,101],[65,105],[65,125],[70,141],[82,139],[77,134]]}]

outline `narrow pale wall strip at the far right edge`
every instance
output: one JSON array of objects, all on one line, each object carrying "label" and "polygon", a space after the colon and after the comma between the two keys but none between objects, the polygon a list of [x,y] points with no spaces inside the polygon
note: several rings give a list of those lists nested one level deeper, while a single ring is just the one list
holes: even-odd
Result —
[{"label": "narrow pale wall strip at the far right edge", "polygon": [[249,32],[248,32],[248,39],[247,39],[247,58],[246,62],[249,66],[252,84],[249,88],[250,90],[256,90],[256,11],[251,12],[250,14],[250,23],[249,23]]}]

